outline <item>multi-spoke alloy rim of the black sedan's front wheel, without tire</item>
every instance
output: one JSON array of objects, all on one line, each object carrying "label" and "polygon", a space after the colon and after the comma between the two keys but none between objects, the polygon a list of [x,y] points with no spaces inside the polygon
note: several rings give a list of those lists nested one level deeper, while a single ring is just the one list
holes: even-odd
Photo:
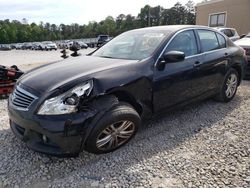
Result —
[{"label": "multi-spoke alloy rim of the black sedan's front wheel, without tire", "polygon": [[96,147],[99,150],[112,150],[128,141],[135,132],[131,121],[119,121],[107,126],[97,137]]}]

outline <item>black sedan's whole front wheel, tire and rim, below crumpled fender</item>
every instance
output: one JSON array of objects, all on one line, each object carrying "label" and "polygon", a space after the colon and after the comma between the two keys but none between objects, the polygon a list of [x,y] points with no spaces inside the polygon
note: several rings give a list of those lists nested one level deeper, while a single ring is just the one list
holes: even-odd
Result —
[{"label": "black sedan's whole front wheel, tire and rim, below crumpled fender", "polygon": [[86,139],[84,149],[91,153],[103,154],[120,148],[133,138],[141,119],[132,106],[119,103],[93,122],[97,123]]}]

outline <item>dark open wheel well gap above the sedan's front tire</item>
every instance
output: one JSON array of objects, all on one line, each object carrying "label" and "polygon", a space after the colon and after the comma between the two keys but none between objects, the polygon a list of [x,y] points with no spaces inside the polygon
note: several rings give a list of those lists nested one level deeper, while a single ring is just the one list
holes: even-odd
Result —
[{"label": "dark open wheel well gap above the sedan's front tire", "polygon": [[116,96],[119,101],[129,103],[131,106],[134,107],[134,109],[137,111],[137,113],[139,115],[142,114],[142,111],[143,111],[142,106],[128,92],[126,92],[126,91],[116,91],[116,92],[113,92],[111,94]]}]

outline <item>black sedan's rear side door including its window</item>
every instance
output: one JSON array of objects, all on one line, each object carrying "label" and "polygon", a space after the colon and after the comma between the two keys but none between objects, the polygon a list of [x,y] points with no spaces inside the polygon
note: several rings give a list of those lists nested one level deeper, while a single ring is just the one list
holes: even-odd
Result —
[{"label": "black sedan's rear side door including its window", "polygon": [[216,93],[224,79],[226,66],[230,60],[230,52],[226,46],[226,39],[212,30],[196,30],[202,50],[202,61],[196,66],[199,80],[194,86],[198,92]]}]

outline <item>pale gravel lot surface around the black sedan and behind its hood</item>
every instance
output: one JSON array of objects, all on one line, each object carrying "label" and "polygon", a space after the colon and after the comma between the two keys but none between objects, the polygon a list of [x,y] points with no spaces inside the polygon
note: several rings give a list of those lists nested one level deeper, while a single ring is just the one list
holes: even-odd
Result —
[{"label": "pale gravel lot surface around the black sedan and behind its hood", "polygon": [[[8,63],[58,58],[55,52],[23,53],[7,52]],[[7,62],[4,53],[0,57],[0,64]],[[207,100],[168,113],[106,155],[58,159],[35,153],[12,134],[6,108],[1,100],[0,187],[250,187],[249,81],[232,102]]]}]

